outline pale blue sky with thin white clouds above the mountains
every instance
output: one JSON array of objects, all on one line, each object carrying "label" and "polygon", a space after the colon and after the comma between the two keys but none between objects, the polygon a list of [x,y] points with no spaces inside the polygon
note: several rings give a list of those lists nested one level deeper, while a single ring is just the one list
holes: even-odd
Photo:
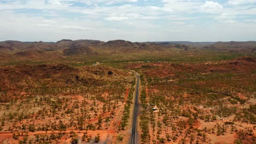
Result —
[{"label": "pale blue sky with thin white clouds above the mountains", "polygon": [[256,0],[0,0],[0,41],[256,40]]}]

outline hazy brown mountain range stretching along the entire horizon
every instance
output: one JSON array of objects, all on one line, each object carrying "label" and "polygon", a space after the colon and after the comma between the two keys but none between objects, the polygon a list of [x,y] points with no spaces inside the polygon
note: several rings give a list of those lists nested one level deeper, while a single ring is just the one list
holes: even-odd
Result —
[{"label": "hazy brown mountain range stretching along the entire horizon", "polygon": [[54,42],[1,41],[0,60],[4,59],[47,59],[76,55],[111,55],[114,53],[154,53],[173,50],[211,49],[230,52],[255,52],[256,41],[190,42],[154,41],[132,43],[126,40],[68,40]]}]

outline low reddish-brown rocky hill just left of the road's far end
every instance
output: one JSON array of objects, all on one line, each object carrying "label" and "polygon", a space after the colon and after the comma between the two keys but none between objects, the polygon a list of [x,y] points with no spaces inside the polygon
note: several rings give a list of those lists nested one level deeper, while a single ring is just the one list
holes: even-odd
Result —
[{"label": "low reddish-brown rocky hill just left of the road's far end", "polygon": [[[112,75],[109,75],[111,71]],[[30,89],[73,88],[77,86],[102,86],[106,81],[119,80],[124,71],[112,67],[80,67],[65,64],[15,65],[0,67],[2,92],[20,93]]]}]

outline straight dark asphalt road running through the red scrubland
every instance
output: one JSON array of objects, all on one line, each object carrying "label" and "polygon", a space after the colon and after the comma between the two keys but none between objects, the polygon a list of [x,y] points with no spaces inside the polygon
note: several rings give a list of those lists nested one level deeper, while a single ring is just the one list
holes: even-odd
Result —
[{"label": "straight dark asphalt road running through the red scrubland", "polygon": [[133,118],[132,118],[132,134],[131,134],[131,144],[136,144],[136,130],[137,130],[137,116],[138,116],[138,94],[139,94],[139,76],[137,75],[137,83],[136,83],[136,93],[135,93],[135,104],[133,110]]}]

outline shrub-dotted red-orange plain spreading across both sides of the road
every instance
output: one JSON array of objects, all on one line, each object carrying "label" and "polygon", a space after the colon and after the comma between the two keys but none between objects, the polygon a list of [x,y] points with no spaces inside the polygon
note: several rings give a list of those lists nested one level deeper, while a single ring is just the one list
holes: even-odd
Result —
[{"label": "shrub-dotted red-orange plain spreading across both sides of the road", "polygon": [[0,62],[0,143],[129,142],[132,70],[140,143],[255,143],[255,54],[185,48]]}]

